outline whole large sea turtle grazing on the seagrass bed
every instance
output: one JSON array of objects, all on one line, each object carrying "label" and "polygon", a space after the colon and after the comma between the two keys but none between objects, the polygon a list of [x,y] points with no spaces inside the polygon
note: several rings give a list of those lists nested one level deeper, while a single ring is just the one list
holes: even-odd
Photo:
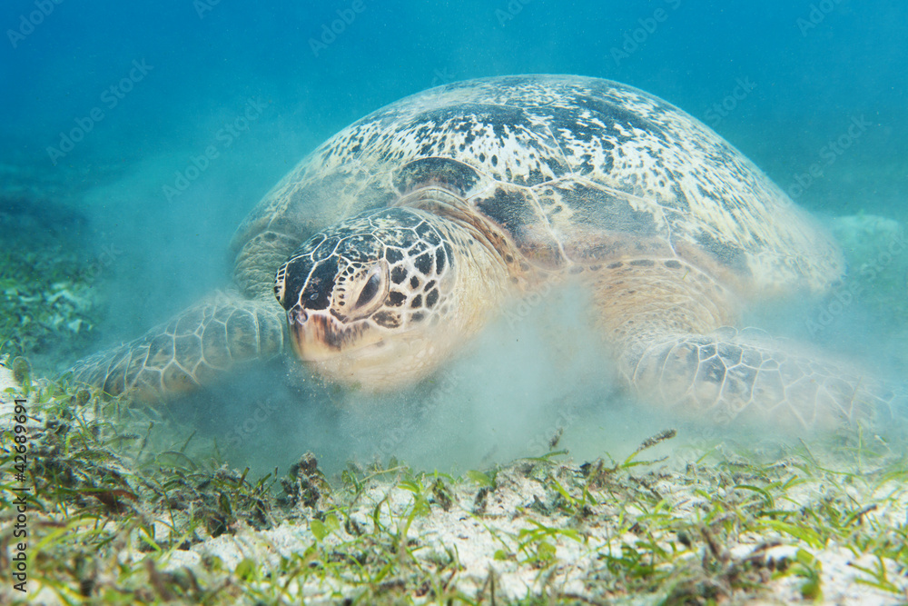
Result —
[{"label": "whole large sea turtle grazing on the seagrass bed", "polygon": [[744,302],[822,293],[842,254],[732,145],[625,84],[494,77],[390,104],[302,160],[232,248],[230,290],[77,363],[75,378],[166,397],[292,345],[331,382],[394,389],[449,362],[515,296],[573,276],[650,401],[815,428],[891,398],[725,328]]}]

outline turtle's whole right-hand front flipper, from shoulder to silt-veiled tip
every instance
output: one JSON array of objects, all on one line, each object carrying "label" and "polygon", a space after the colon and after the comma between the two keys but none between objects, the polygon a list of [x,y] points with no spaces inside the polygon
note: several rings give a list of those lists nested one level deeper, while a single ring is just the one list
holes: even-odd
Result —
[{"label": "turtle's whole right-hand front flipper, from shoulder to silt-veiled tip", "polygon": [[727,328],[735,295],[694,265],[611,263],[594,274],[593,286],[620,373],[646,401],[704,422],[788,433],[893,414],[896,394],[847,363]]}]

